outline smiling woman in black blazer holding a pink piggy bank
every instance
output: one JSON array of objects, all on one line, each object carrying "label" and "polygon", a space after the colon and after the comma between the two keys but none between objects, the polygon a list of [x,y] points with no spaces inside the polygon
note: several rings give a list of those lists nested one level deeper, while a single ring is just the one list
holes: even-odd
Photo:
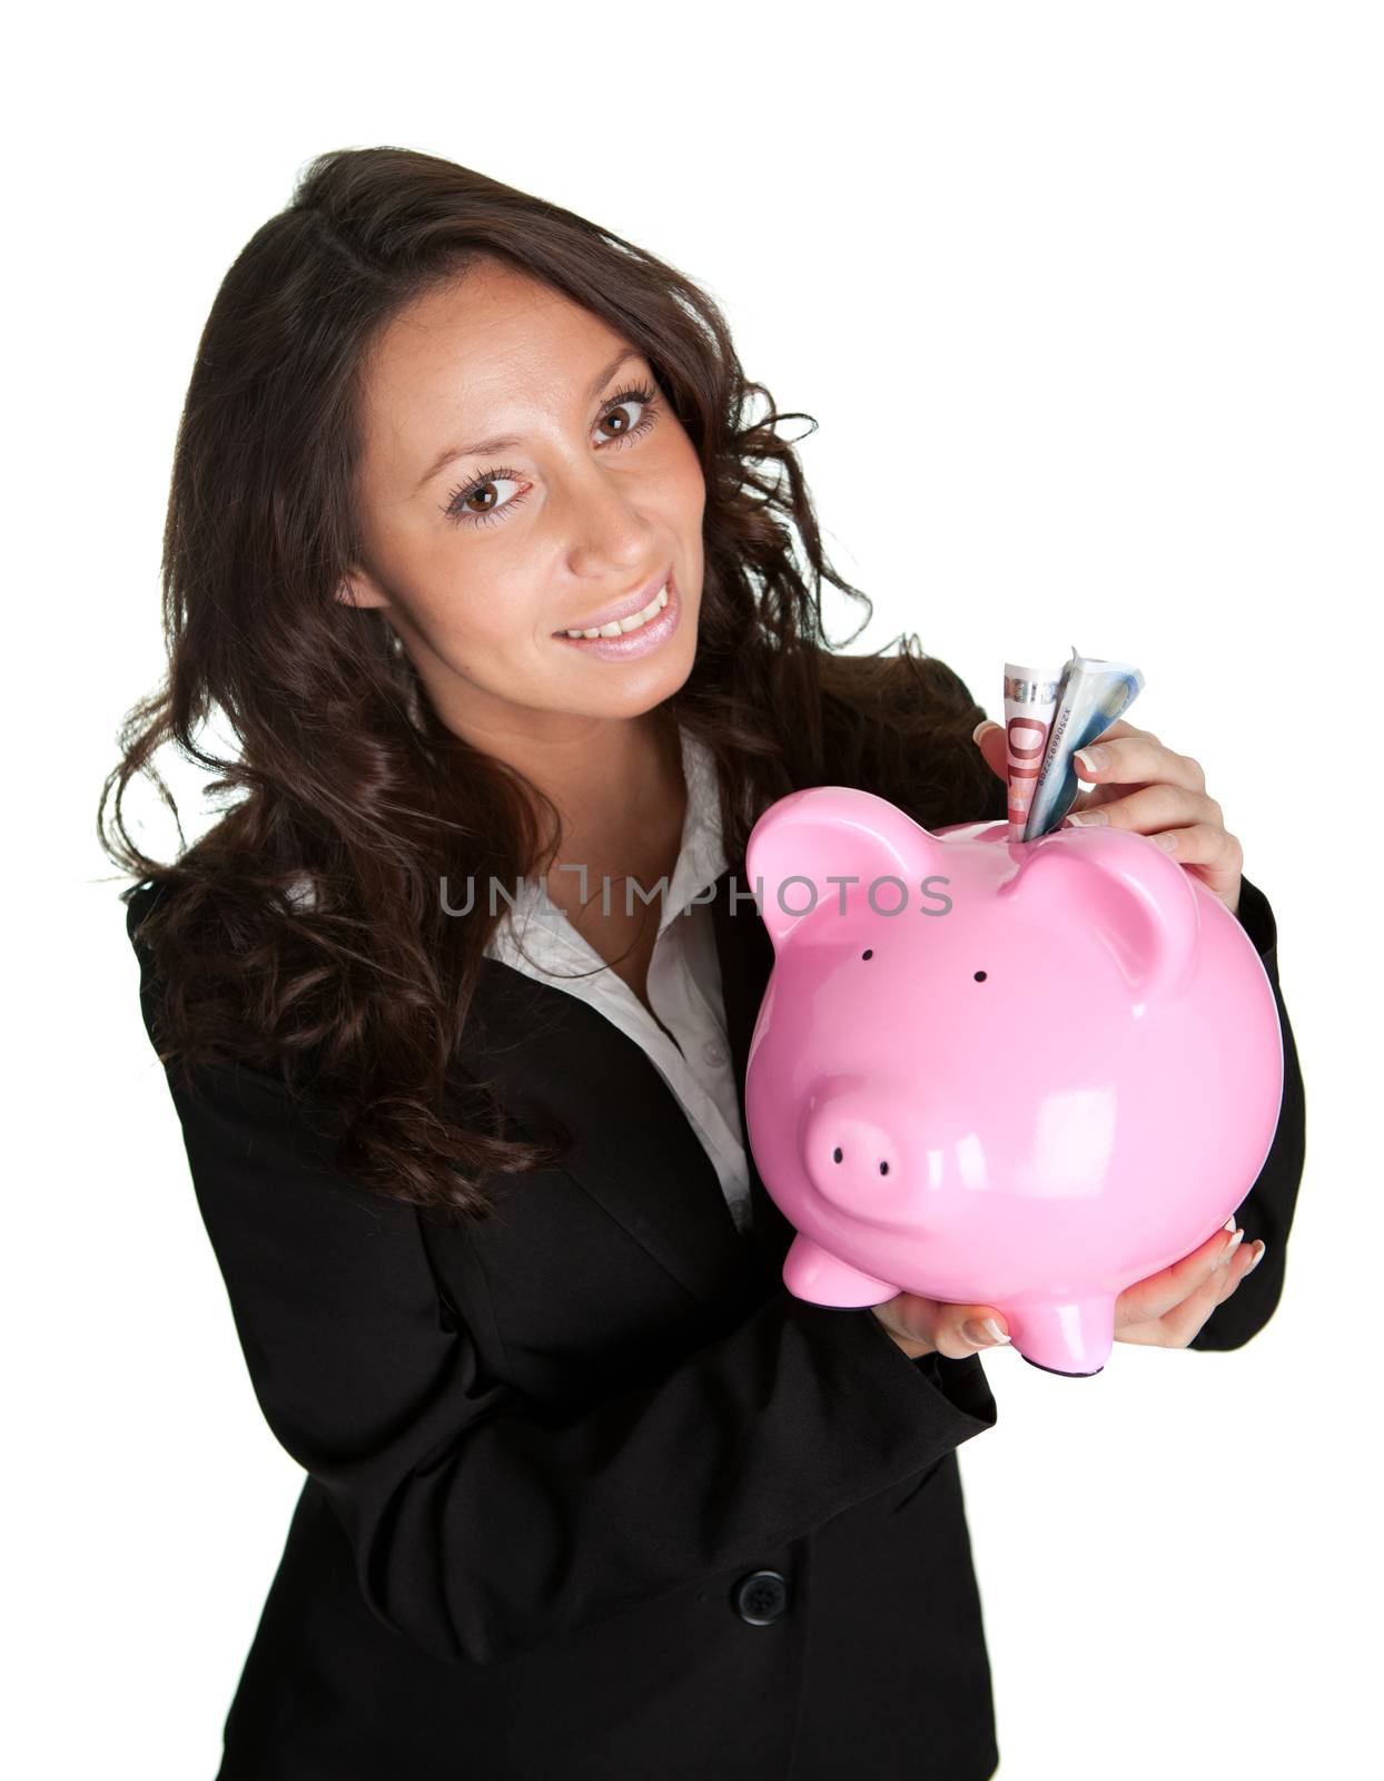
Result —
[{"label": "smiling woman in black blazer holding a pink piggy bank", "polygon": [[[822,647],[822,579],[863,595],[754,394],[676,271],[402,150],[313,162],[217,294],[169,682],[107,793],[199,1206],[308,1473],[226,1781],[998,1761],[955,1448],[994,1425],[1002,1318],[785,1291],[744,1143],[770,956],[729,890],[799,785],[998,817],[1003,748],[941,663]],[[1171,834],[1272,974],[1197,764],[1108,734],[1092,801]],[[121,794],[167,739],[240,796],[160,866]],[[1270,1265],[1238,1291],[1263,1248],[1217,1238],[1121,1339],[1270,1316],[1299,1094],[1243,1208]]]}]

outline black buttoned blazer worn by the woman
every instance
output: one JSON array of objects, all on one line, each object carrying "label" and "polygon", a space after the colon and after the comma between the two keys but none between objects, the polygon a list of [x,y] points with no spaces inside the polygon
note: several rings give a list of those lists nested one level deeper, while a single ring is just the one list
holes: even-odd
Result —
[{"label": "black buttoned blazer worn by the woman", "polygon": [[[772,947],[728,876],[744,1117]],[[1243,899],[1277,992],[1272,910]],[[1279,1010],[1284,1110],[1242,1209],[1268,1252],[1201,1348],[1247,1341],[1283,1286],[1304,1111]],[[986,1781],[955,1457],[994,1427],[980,1359],[909,1361],[868,1309],[793,1298],[752,1158],[747,1240],[640,1047],[486,960],[457,1078],[493,1070],[514,1131],[559,1115],[575,1145],[470,1229],[340,1174],[331,1122],[267,1070],[173,1086],[258,1402],[308,1473],[222,1781]]]}]

